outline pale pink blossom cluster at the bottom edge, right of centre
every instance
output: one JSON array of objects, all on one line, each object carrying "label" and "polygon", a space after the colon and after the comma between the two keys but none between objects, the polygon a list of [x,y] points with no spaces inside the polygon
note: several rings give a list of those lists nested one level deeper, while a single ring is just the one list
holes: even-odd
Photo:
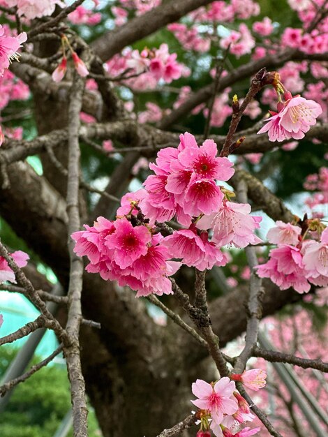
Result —
[{"label": "pale pink blossom cluster at the bottom edge, right of centre", "polygon": [[260,428],[246,427],[233,434],[232,429],[235,430],[240,424],[251,422],[255,418],[248,403],[237,391],[234,380],[258,391],[264,387],[266,378],[267,373],[261,369],[253,369],[241,374],[232,374],[232,380],[224,377],[211,384],[197,379],[192,385],[192,391],[198,399],[191,401],[201,410],[197,413],[201,420],[197,437],[210,437],[209,430],[213,431],[216,437],[248,437],[260,431]]}]

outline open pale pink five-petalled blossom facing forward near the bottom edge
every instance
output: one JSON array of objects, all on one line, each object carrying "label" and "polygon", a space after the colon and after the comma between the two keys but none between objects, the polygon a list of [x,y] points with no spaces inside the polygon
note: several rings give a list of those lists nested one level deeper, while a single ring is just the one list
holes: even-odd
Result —
[{"label": "open pale pink five-petalled blossom facing forward near the bottom edge", "polygon": [[234,390],[234,382],[226,376],[214,385],[197,379],[192,385],[192,391],[198,399],[191,402],[202,410],[209,410],[213,422],[221,424],[224,414],[231,415],[238,409],[236,401],[230,399]]}]

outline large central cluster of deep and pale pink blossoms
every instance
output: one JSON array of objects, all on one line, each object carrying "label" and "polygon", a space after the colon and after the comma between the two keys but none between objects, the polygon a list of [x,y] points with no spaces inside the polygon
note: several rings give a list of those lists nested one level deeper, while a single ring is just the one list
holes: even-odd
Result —
[{"label": "large central cluster of deep and pale pink blossoms", "polygon": [[[181,264],[222,266],[228,262],[222,246],[260,242],[254,230],[261,217],[251,216],[248,204],[230,202],[232,193],[216,184],[234,173],[228,158],[217,153],[213,140],[199,147],[190,133],[180,135],[177,149],[159,151],[149,164],[155,175],[147,177],[145,189],[124,195],[115,221],[99,217],[73,233],[75,252],[89,258],[87,271],[137,290],[137,297],[170,294],[168,276]],[[161,226],[174,217],[183,229]]]}]

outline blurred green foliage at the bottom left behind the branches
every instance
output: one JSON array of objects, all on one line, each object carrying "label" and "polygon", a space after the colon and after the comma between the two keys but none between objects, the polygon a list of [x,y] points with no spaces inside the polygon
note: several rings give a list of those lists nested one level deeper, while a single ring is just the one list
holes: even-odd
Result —
[{"label": "blurred green foliage at the bottom left behind the branches", "polygon": [[[1,347],[0,378],[17,349]],[[32,364],[41,359],[36,357]],[[1,437],[52,437],[70,409],[66,367],[50,364],[17,385],[6,410],[0,415]],[[99,436],[94,411],[89,413],[89,436]],[[68,436],[73,436],[72,433]]]}]

